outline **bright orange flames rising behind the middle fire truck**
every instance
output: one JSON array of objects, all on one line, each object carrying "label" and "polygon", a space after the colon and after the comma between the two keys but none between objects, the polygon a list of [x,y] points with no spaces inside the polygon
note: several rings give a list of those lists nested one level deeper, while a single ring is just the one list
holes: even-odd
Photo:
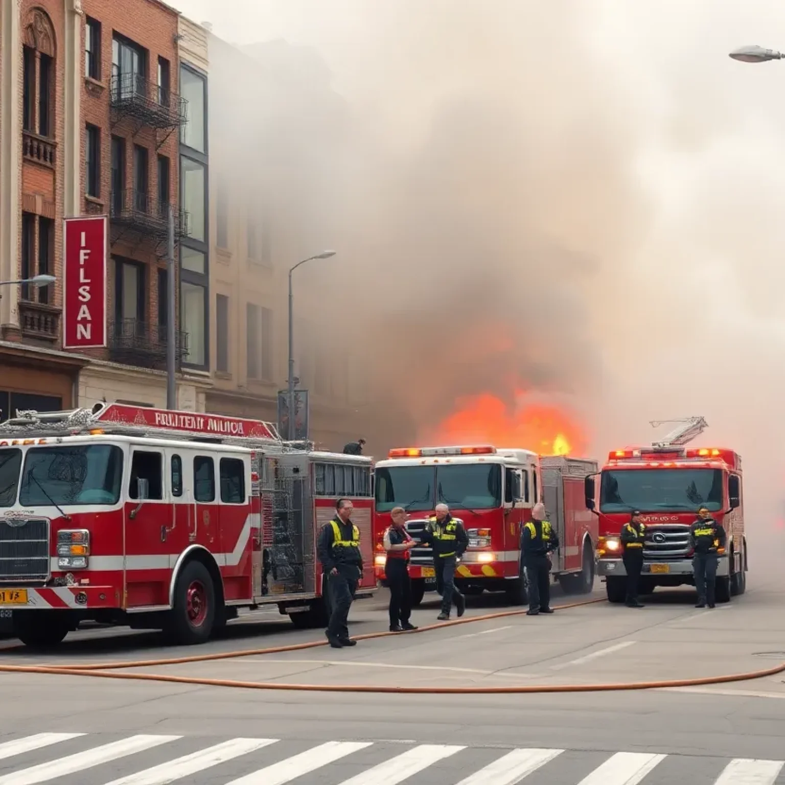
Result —
[{"label": "bright orange flames rising behind the middle fire truck", "polygon": [[434,429],[425,429],[422,444],[493,444],[522,447],[539,455],[582,455],[586,436],[570,415],[545,403],[528,403],[509,411],[491,395],[458,399],[457,411]]}]

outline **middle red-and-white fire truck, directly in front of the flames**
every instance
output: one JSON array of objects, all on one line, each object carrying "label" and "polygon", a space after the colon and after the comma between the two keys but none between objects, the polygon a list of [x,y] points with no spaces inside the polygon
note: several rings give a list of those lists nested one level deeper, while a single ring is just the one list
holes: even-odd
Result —
[{"label": "middle red-and-white fire truck, directly in front of the flames", "polygon": [[[553,556],[553,579],[570,593],[589,593],[594,583],[597,522],[583,500],[584,478],[597,462],[539,457],[522,449],[490,445],[403,447],[374,467],[376,576],[384,581],[385,529],[390,510],[409,513],[407,530],[418,539],[437,504],[444,503],[469,535],[469,548],[455,571],[462,591],[504,591],[512,604],[526,604],[521,568],[521,528],[536,502],[545,502],[557,528],[560,549]],[[414,604],[436,588],[429,546],[411,551],[409,574]]]}]

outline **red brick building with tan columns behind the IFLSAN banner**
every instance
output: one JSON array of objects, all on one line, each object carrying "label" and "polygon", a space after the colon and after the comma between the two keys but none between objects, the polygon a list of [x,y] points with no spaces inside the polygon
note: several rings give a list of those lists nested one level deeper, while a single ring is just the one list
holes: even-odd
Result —
[{"label": "red brick building with tan columns behind the IFLSAN banner", "polygon": [[[159,0],[0,0],[0,13],[0,282],[57,278],[0,287],[0,416],[104,397],[161,406],[170,210],[176,258],[203,232],[179,205],[192,136],[179,14]],[[110,219],[108,346],[76,354],[61,350],[62,220],[89,214]],[[205,349],[177,336],[178,405],[203,408]]]}]

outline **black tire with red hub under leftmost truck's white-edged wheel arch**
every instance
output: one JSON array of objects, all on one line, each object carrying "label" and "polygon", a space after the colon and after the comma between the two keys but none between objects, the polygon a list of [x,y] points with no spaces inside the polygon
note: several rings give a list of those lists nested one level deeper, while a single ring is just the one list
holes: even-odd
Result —
[{"label": "black tire with red hub under leftmost truck's white-edged wheel arch", "polygon": [[205,643],[213,633],[215,606],[210,571],[200,561],[189,561],[177,577],[166,637],[183,646]]}]

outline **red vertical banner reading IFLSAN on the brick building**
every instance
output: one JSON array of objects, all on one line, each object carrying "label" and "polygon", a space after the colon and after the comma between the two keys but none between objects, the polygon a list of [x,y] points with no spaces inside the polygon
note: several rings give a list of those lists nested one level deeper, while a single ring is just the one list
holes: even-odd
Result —
[{"label": "red vertical banner reading IFLSAN on the brick building", "polygon": [[64,349],[106,346],[108,225],[105,215],[64,221]]}]

